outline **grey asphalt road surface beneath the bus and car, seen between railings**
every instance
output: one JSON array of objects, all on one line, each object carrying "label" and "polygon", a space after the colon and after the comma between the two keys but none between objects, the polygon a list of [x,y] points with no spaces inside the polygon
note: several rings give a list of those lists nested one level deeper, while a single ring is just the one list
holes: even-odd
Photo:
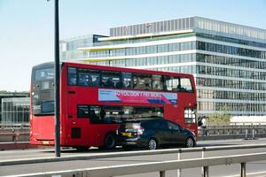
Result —
[{"label": "grey asphalt road surface beneath the bus and car, seen between railings", "polygon": [[[243,140],[228,140],[228,141],[208,141],[199,142],[199,146],[218,146],[218,145],[237,145],[248,143],[262,143],[266,142],[266,139],[259,139],[253,141]],[[121,151],[113,150],[110,153]],[[75,150],[62,150],[62,157],[73,157],[77,155],[89,155],[89,154],[101,154],[106,152],[105,150],[92,149],[86,152],[77,152]],[[255,152],[266,152],[265,148],[260,149],[247,149],[247,150],[217,150],[207,151],[205,157],[218,157],[224,155],[238,155]],[[54,157],[54,151],[52,149],[44,150],[5,150],[0,151],[0,159],[10,160],[18,158],[40,158],[40,157]],[[182,159],[188,158],[201,158],[201,152],[183,153]],[[164,160],[176,160],[177,154],[165,154],[165,155],[150,155],[150,156],[130,156],[123,158],[94,158],[89,160],[74,160],[64,162],[51,162],[51,163],[38,163],[30,165],[0,165],[0,176],[21,174],[21,173],[40,173],[69,169],[81,169],[106,165],[126,165],[137,164],[145,162],[160,162]],[[210,176],[239,176],[240,165],[221,165],[211,166],[209,168]],[[246,164],[248,176],[266,176],[266,161],[247,163]],[[261,173],[264,172],[264,173]],[[254,175],[252,175],[254,174]],[[135,175],[127,175],[129,177],[154,177],[159,176],[159,173],[143,173]],[[168,171],[167,176],[176,176],[176,170]],[[201,168],[192,168],[182,170],[182,176],[201,176]]]}]

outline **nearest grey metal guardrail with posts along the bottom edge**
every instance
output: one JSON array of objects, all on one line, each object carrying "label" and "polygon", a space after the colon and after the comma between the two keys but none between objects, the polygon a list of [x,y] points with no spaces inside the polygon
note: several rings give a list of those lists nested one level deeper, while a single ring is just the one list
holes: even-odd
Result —
[{"label": "nearest grey metal guardrail with posts along the bottom edge", "polygon": [[36,176],[36,177],[47,177],[47,176],[90,176],[90,177],[113,177],[118,175],[128,175],[136,173],[153,173],[159,172],[160,177],[166,176],[166,171],[185,169],[185,168],[196,168],[202,167],[202,175],[204,177],[209,176],[208,168],[213,165],[231,165],[240,164],[240,176],[246,177],[246,163],[254,161],[266,160],[266,153],[254,153],[245,155],[234,155],[214,158],[194,158],[185,160],[170,160],[162,162],[142,163],[133,165],[112,165],[96,168],[85,168],[76,170],[67,170],[59,172],[47,172],[47,173],[28,173],[22,175],[12,176]]}]

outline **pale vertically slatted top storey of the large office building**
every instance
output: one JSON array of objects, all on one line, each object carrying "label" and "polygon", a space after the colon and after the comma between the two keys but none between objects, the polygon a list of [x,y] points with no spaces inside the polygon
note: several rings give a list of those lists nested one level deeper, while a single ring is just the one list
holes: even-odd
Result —
[{"label": "pale vertically slatted top storey of the large office building", "polygon": [[165,21],[149,22],[138,25],[113,27],[111,36],[156,34],[171,31],[193,29],[202,34],[223,35],[239,39],[266,40],[266,31],[255,27],[246,27],[215,19],[191,17],[184,19],[170,19]]}]

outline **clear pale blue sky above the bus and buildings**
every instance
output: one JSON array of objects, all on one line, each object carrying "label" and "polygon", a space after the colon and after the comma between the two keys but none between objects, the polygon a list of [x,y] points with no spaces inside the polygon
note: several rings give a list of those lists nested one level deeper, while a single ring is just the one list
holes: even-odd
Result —
[{"label": "clear pale blue sky above the bus and buildings", "polygon": [[[110,27],[200,16],[266,29],[266,0],[59,0],[60,39]],[[54,60],[54,0],[0,0],[0,90],[29,91],[33,65]]]}]

